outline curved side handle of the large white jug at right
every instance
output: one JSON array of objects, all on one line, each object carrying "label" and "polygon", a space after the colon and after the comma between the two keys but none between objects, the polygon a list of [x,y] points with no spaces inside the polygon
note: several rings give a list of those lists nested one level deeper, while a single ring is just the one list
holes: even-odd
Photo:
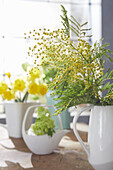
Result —
[{"label": "curved side handle of the large white jug at right", "polygon": [[78,141],[80,142],[80,144],[82,145],[82,147],[84,148],[85,152],[87,153],[88,157],[89,157],[89,150],[88,148],[85,146],[84,142],[82,141],[81,137],[79,136],[79,133],[77,131],[77,128],[76,128],[76,123],[77,123],[77,120],[80,116],[81,113],[83,113],[84,111],[87,111],[89,109],[92,109],[93,106],[86,106],[84,108],[82,108],[81,110],[79,110],[74,118],[73,118],[73,131],[74,131],[74,134],[76,136],[76,138],[78,139]]}]

